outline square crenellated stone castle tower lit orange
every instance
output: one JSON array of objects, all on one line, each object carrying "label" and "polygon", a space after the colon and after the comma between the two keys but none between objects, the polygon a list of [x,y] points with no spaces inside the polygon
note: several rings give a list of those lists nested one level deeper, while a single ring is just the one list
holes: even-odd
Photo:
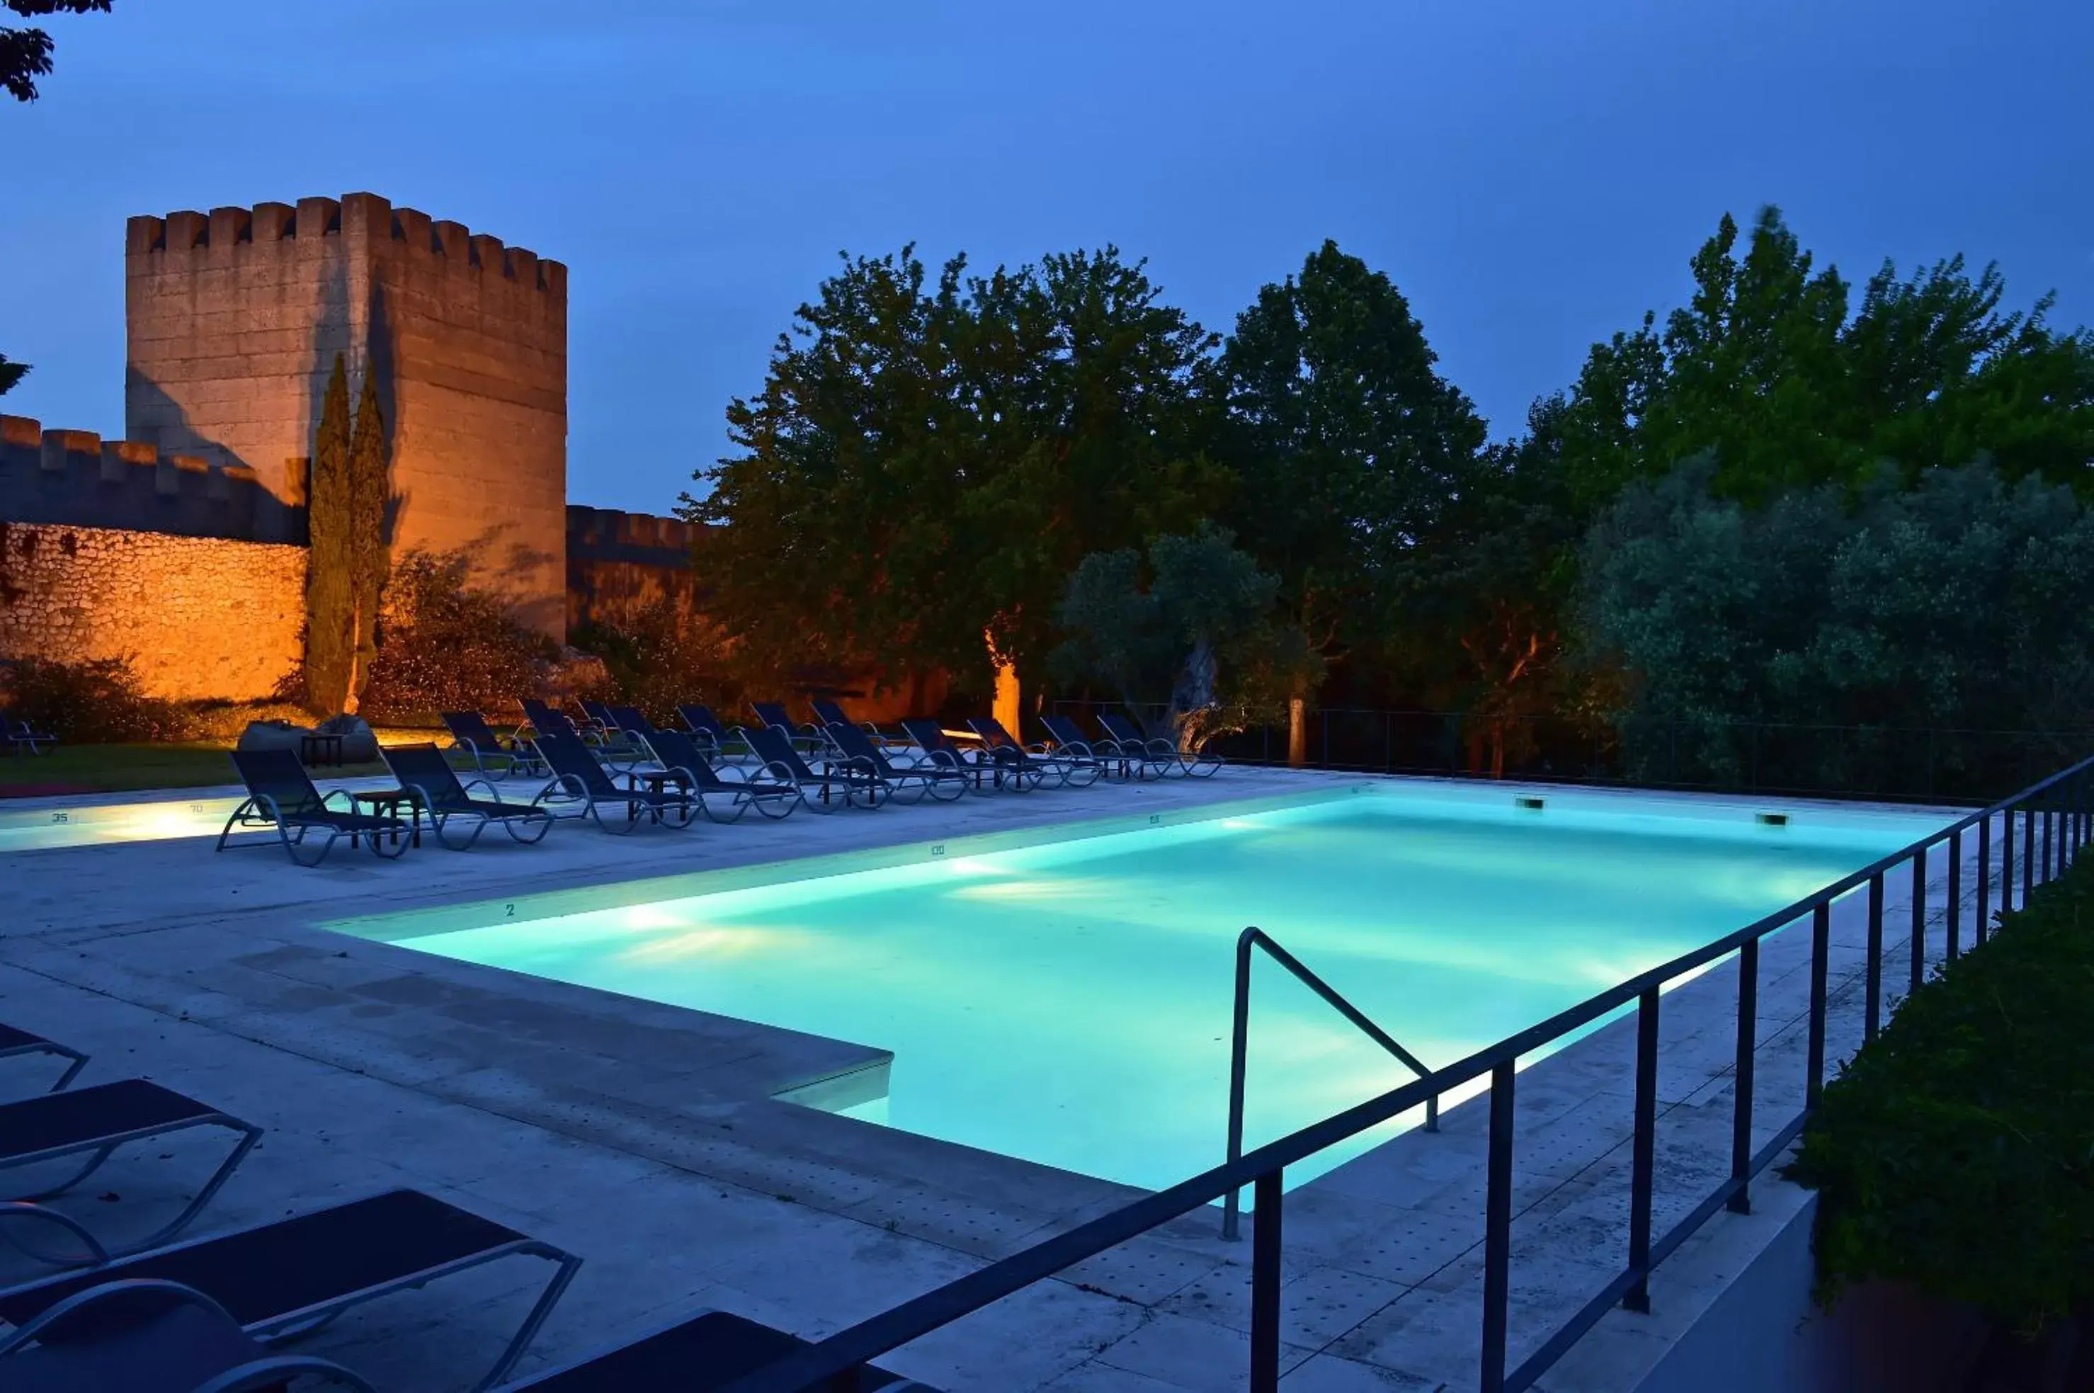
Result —
[{"label": "square crenellated stone castle tower lit orange", "polygon": [[394,551],[471,549],[565,622],[567,270],[369,193],[132,218],[126,432],[304,503],[343,356],[389,427]]}]

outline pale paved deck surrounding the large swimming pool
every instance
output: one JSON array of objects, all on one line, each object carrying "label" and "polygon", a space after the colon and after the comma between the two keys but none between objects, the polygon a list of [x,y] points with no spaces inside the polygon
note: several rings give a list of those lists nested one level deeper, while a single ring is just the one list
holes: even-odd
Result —
[{"label": "pale paved deck surrounding the large swimming pool", "polygon": [[[0,857],[0,1020],[90,1049],[82,1083],[147,1075],[268,1129],[199,1234],[417,1186],[584,1255],[524,1370],[699,1307],[819,1336],[1137,1192],[773,1102],[875,1064],[879,1041],[534,980],[322,924],[1359,781],[1246,769],[689,834],[567,825],[536,848],[494,834],[469,855],[425,846],[396,863],[337,848],[310,871],[276,848],[214,857],[193,838],[13,853]],[[1910,922],[1899,890],[1887,901],[1893,945]],[[1828,1056],[1841,1058],[1859,1039],[1859,905],[1843,901],[1832,926]],[[1895,949],[1891,961],[1903,961]],[[1807,934],[1765,945],[1761,1137],[1790,1116],[1776,1104],[1780,1081],[1801,1098],[1805,978]],[[1619,1267],[1625,1026],[1520,1075],[1514,1364]],[[1721,966],[1665,997],[1658,1232],[1728,1173],[1734,1029],[1734,974]],[[0,1070],[8,1098],[44,1083],[34,1064]],[[1483,1108],[1464,1104],[1439,1135],[1399,1137],[1288,1196],[1288,1389],[1474,1385],[1480,1140]],[[201,1181],[214,1146],[117,1156],[90,1190],[119,1198],[77,1202],[98,1228],[142,1232]],[[1217,1160],[1219,1150],[1217,1137]],[[1757,1213],[1719,1215],[1658,1272],[1652,1315],[1610,1313],[1539,1387],[1633,1387],[1801,1202],[1786,1181],[1761,1181]],[[1240,1387],[1248,1259],[1248,1244],[1221,1242],[1196,1215],[886,1364],[955,1391]],[[0,1282],[29,1272],[0,1265]],[[369,1307],[308,1347],[387,1389],[469,1387],[542,1276],[513,1259]]]}]

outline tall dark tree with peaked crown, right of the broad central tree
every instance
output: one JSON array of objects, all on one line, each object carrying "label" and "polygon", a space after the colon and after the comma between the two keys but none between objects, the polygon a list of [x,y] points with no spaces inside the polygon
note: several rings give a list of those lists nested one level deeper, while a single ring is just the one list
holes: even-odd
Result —
[{"label": "tall dark tree with peaked crown, right of the broad central tree", "polygon": [[1332,241],[1223,348],[1227,517],[1332,658],[1388,633],[1397,568],[1476,484],[1487,427],[1436,360],[1395,283]]}]

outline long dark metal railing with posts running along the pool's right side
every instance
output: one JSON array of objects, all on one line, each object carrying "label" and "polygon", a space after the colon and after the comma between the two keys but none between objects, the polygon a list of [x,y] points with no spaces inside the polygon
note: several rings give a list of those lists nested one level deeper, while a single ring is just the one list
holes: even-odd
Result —
[{"label": "long dark metal railing with posts running along the pool's right side", "polygon": [[[2021,817],[2023,850],[2021,850],[2021,899],[2027,903],[2027,894],[2035,884],[2052,880],[2054,874],[2071,863],[2077,863],[2081,848],[2094,840],[2094,758],[2079,760],[2077,765],[2063,769],[2040,783],[2002,798],[1991,806],[1970,813],[1958,823],[1952,823],[1939,832],[1933,832],[1918,842],[1912,842],[1903,850],[1891,853],[1872,865],[1843,876],[1832,884],[1813,890],[1811,894],[1799,899],[1786,909],[1778,909],[1753,924],[1723,934],[1721,938],[1707,943],[1690,953],[1650,968],[1627,982],[1608,987],[1606,991],[1587,997],[1579,1005],[1573,1005],[1547,1020],[1533,1024],[1518,1035],[1510,1035],[1495,1045],[1478,1049],[1466,1060],[1457,1060],[1447,1068],[1434,1070],[1432,1075],[1405,1083],[1403,1087],[1390,1089],[1380,1098],[1369,1098],[1363,1104],[1346,1108],[1321,1123],[1311,1123],[1300,1131],[1294,1131],[1277,1142],[1269,1142],[1254,1152],[1244,1154],[1238,1160],[1223,1163],[1210,1171],[1202,1171],[1191,1179],[1179,1181],[1168,1190],[1158,1190],[1156,1194],[1143,1196],[1133,1204],[1124,1204],[1112,1213],[1106,1213],[1089,1223],[1081,1223],[1064,1234],[1055,1234],[1043,1242],[1032,1244],[1011,1257],[1005,1257],[988,1267],[970,1272],[967,1276],[946,1282],[934,1290],[923,1292],[903,1301],[900,1305],[882,1311],[869,1320],[861,1320],[854,1326],[838,1330],[836,1334],[787,1353],[758,1370],[752,1370],[733,1383],[729,1383],[720,1393],[804,1393],[806,1389],[819,1387],[848,1387],[840,1378],[850,1376],[861,1364],[877,1359],[890,1349],[898,1349],[911,1341],[917,1341],[932,1330],[953,1324],[963,1315],[1001,1301],[1034,1282],[1043,1282],[1076,1263],[1114,1248],[1131,1238],[1139,1238],[1150,1230],[1162,1228],[1173,1219],[1194,1213],[1204,1204],[1212,1204],[1231,1190],[1242,1186],[1256,1186],[1256,1223],[1252,1225],[1252,1257],[1250,1257],[1250,1389],[1252,1393],[1277,1393],[1279,1387],[1279,1234],[1282,1234],[1282,1200],[1284,1200],[1284,1171],[1286,1167],[1305,1160],[1330,1146],[1336,1146],[1361,1131],[1384,1123],[1401,1112],[1424,1104],[1428,1098],[1447,1093],[1472,1079],[1489,1075],[1491,1079],[1491,1119],[1489,1119],[1489,1160],[1487,1160],[1487,1194],[1485,1194],[1485,1280],[1483,1280],[1483,1349],[1480,1349],[1480,1387],[1485,1393],[1514,1393],[1533,1387],[1533,1383],[1560,1359],[1570,1345],[1575,1345],[1591,1326],[1600,1322],[1617,1301],[1629,1309],[1646,1309],[1646,1284],[1652,1269],[1663,1263],[1671,1253],[1679,1248],[1694,1232],[1707,1223],[1721,1209],[1738,1209],[1748,1198],[1748,1184],[1755,1175],[1765,1171],[1803,1131],[1805,1121],[1815,1112],[1818,1100],[1824,1089],[1824,1049],[1826,1049],[1826,989],[1828,989],[1828,968],[1830,968],[1830,922],[1832,922],[1832,901],[1845,897],[1864,884],[1880,884],[1883,876],[1891,869],[1918,859],[1920,869],[1924,869],[1926,853],[1947,842],[1952,886],[1956,884],[1956,871],[1960,871],[1962,861],[1962,834],[1977,827],[1979,834],[1979,882],[1977,882],[1977,922],[1975,941],[1985,941],[1985,926],[1991,913],[1991,830],[1993,821],[2002,821],[2000,838],[2000,911],[2012,909],[2014,901],[2014,830],[2017,815]],[[2063,802],[2048,800],[2042,809],[2029,806],[2044,796],[2058,798]],[[2056,817],[2054,817],[2056,815]],[[2037,825],[2042,827],[2042,844],[2037,846]],[[2052,859],[2052,846],[2056,848],[2056,859]],[[2042,853],[2042,869],[2037,871],[2037,861],[2033,853]],[[1874,920],[1870,924],[1870,978],[1880,982],[1883,968],[1883,924],[1880,894],[1870,897],[1870,907]],[[1790,924],[1809,915],[1811,920],[1811,1010],[1809,1010],[1809,1066],[1805,1073],[1805,1102],[1803,1110],[1784,1125],[1765,1146],[1757,1152],[1740,1154],[1738,1140],[1751,1135],[1753,1116],[1753,1075],[1751,1066],[1738,1070],[1738,1089],[1734,1093],[1734,1108],[1738,1125],[1732,1133],[1732,1175],[1713,1194],[1709,1194],[1700,1204],[1696,1204],[1679,1223],[1675,1223],[1665,1236],[1650,1236],[1652,1219],[1652,1175],[1654,1175],[1654,1114],[1656,1114],[1656,1052],[1658,1052],[1658,995],[1667,982],[1696,968],[1705,968],[1730,953],[1738,953],[1740,966],[1740,1003],[1751,1003],[1751,982],[1757,980],[1759,953],[1757,945],[1767,934],[1788,928]],[[1947,955],[1958,953],[1958,915],[1960,901],[1950,899],[1947,903]],[[1753,945],[1746,951],[1744,945]],[[1866,1022],[1866,1035],[1876,1035],[1876,1016],[1880,1003],[1870,993],[1870,1010]],[[1512,1238],[1512,1093],[1518,1058],[1522,1054],[1533,1054],[1543,1045],[1550,1045],[1573,1031],[1598,1022],[1608,1012],[1623,1005],[1638,1003],[1638,1058],[1635,1058],[1635,1140],[1633,1140],[1633,1179],[1631,1179],[1631,1200],[1629,1200],[1629,1265],[1623,1274],[1610,1280],[1602,1290],[1594,1295],[1568,1322],[1558,1326],[1541,1349],[1529,1355],[1516,1370],[1508,1374],[1506,1370],[1506,1345],[1510,1328],[1510,1238]],[[1753,1047],[1755,1016],[1751,1012],[1740,1012],[1738,1016],[1738,1047],[1740,1056],[1748,1054]],[[838,1380],[838,1383],[831,1383]]]}]

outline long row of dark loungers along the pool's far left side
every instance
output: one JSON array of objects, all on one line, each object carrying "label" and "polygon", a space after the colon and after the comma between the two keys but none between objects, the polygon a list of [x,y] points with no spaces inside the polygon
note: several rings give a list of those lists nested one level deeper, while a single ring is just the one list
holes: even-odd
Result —
[{"label": "long row of dark loungers along the pool's far left side", "polygon": [[[584,702],[586,723],[526,700],[528,725],[500,733],[480,712],[444,712],[452,752],[433,744],[387,746],[398,788],[322,794],[289,750],[232,756],[247,798],[226,819],[218,850],[239,832],[272,832],[299,865],[320,863],[335,842],[392,859],[421,844],[423,825],[452,850],[498,825],[517,842],[544,838],[555,819],[595,821],[605,832],[729,823],[756,811],[836,813],[888,802],[951,802],[970,792],[1087,788],[1099,779],[1204,777],[1221,760],[1181,754],[1124,716],[1101,716],[1104,735],[1074,721],[1043,721],[1049,739],[1022,744],[995,718],[974,718],[976,746],[957,744],[936,721],[903,721],[903,735],[854,723],[833,702],[815,702],[815,723],[794,723],[781,704],[756,702],[758,721],[727,727],[706,706],[683,706],[685,729],[660,729],[639,708]],[[471,762],[469,779],[452,756]],[[507,800],[505,779],[544,779],[528,800]]]}]

